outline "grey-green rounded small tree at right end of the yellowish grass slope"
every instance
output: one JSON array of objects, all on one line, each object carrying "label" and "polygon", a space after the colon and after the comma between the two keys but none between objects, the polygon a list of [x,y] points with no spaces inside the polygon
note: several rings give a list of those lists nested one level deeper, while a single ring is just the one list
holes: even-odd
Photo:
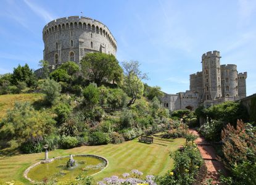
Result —
[{"label": "grey-green rounded small tree at right end of the yellowish grass slope", "polygon": [[46,94],[46,99],[50,104],[54,104],[60,96],[61,86],[54,80],[46,79],[40,85],[41,91]]}]

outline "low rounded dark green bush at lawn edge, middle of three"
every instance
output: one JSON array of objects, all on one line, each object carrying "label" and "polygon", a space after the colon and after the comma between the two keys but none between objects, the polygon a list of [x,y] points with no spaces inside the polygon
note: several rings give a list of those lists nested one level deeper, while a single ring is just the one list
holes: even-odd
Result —
[{"label": "low rounded dark green bush at lawn edge, middle of three", "polygon": [[88,137],[88,143],[90,145],[108,144],[109,142],[110,142],[109,135],[99,131],[89,134],[89,137]]}]

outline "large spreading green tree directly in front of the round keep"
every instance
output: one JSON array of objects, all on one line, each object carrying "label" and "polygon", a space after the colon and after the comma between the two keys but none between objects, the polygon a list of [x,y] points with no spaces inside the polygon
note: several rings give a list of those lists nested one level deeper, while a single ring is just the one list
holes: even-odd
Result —
[{"label": "large spreading green tree directly in front of the round keep", "polygon": [[101,52],[88,53],[81,60],[81,72],[100,86],[104,80],[121,81],[122,68],[114,55]]}]

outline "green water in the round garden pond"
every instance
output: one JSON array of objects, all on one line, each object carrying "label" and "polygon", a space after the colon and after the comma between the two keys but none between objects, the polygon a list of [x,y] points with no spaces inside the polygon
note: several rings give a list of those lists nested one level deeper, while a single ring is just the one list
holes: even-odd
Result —
[{"label": "green water in the round garden pond", "polygon": [[69,157],[56,159],[51,163],[40,164],[28,172],[28,178],[41,182],[44,179],[54,181],[65,181],[75,179],[78,175],[93,175],[101,171],[105,165],[104,160],[96,157],[75,156],[75,167],[67,168]]}]

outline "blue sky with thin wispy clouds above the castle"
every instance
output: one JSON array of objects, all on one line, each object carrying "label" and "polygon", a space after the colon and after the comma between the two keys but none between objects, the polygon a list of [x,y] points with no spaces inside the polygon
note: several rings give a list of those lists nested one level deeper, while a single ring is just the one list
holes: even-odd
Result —
[{"label": "blue sky with thin wispy clouds above the castle", "polygon": [[0,0],[0,6],[0,73],[25,63],[38,68],[44,25],[82,11],[107,25],[117,59],[138,60],[151,86],[186,91],[202,54],[217,50],[221,64],[247,71],[247,96],[256,92],[256,1]]}]

